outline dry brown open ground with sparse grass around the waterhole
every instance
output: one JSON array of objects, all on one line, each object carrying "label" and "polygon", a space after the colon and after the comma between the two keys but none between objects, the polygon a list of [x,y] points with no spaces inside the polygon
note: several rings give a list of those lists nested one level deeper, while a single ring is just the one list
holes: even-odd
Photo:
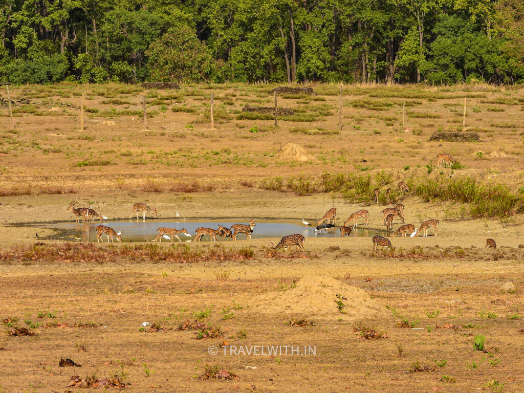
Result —
[{"label": "dry brown open ground with sparse grass around the waterhole", "polygon": [[[271,106],[270,88],[197,85],[156,92],[114,84],[58,84],[12,89],[15,99],[23,95],[32,104],[14,108],[14,132],[8,129],[5,109],[0,118],[0,187],[4,195],[15,194],[0,197],[0,246],[16,248],[39,241],[34,227],[12,224],[71,220],[65,208],[75,199],[97,206],[110,218],[127,216],[133,202],[149,198],[153,202],[158,198],[160,217],[172,217],[178,210],[192,218],[254,215],[313,220],[334,204],[341,221],[363,206],[346,204],[338,195],[298,197],[263,190],[260,180],[300,173],[317,176],[323,171],[375,174],[385,169],[392,173],[395,187],[412,174],[425,173],[424,166],[435,163],[441,151],[451,152],[466,166],[455,174],[492,179],[515,190],[521,187],[524,128],[519,118],[524,95],[518,90],[345,86],[344,127],[336,133],[338,86],[318,85],[313,86],[319,92],[313,99],[279,98],[282,106],[313,113],[311,122],[281,119],[274,128],[272,121],[236,119],[243,105]],[[74,106],[79,105],[82,92],[88,118],[86,129],[79,131]],[[205,117],[212,92],[214,130]],[[124,112],[139,110],[142,94],[148,97],[148,130],[137,113]],[[429,142],[438,128],[461,127],[464,96],[466,125],[474,127],[481,140]],[[408,132],[401,130],[404,101],[411,112]],[[324,104],[331,106],[318,106]],[[384,110],[377,111],[377,105]],[[172,107],[190,107],[194,112],[173,112]],[[259,132],[249,132],[255,124]],[[277,158],[279,148],[290,141],[317,161]],[[483,152],[482,159],[477,151]],[[405,170],[406,166],[410,168]],[[169,190],[195,180],[198,192]],[[373,253],[369,238],[308,238],[305,258],[266,257],[267,245],[254,240],[226,244],[254,249],[254,259],[236,261],[1,261],[0,318],[15,317],[18,326],[39,326],[30,337],[0,332],[0,347],[5,348],[0,350],[0,392],[64,391],[72,375],[116,373],[126,376],[127,391],[137,392],[522,391],[523,250],[517,248],[524,243],[522,216],[512,216],[503,225],[490,219],[459,220],[458,204],[422,203],[412,195],[403,203],[406,223],[417,225],[429,217],[440,220],[438,237],[392,239],[397,256],[401,250],[406,253],[420,246],[412,256]],[[384,206],[364,207],[370,212],[370,226],[379,228]],[[53,232],[39,228],[38,233],[42,237]],[[487,237],[496,239],[499,250],[483,250]],[[253,313],[247,307],[253,298],[267,298],[271,291],[292,294],[294,282],[311,275],[339,279],[388,305],[384,313],[362,318],[387,338],[360,339],[352,328],[357,321],[336,313],[310,318],[313,326],[296,328],[287,324],[293,319],[287,313],[275,313],[269,306],[268,313]],[[507,281],[514,283],[514,290],[501,289]],[[197,316],[221,326],[224,337],[195,340],[192,331],[139,331],[144,321],[176,328]],[[397,327],[403,319],[423,329]],[[53,322],[97,327],[43,327]],[[444,324],[465,327],[434,329]],[[477,334],[486,336],[485,352],[473,350]],[[316,355],[207,353],[210,345],[223,340],[237,346],[310,345],[316,347]],[[60,368],[61,357],[82,367]],[[417,362],[421,367],[437,363],[443,367],[410,373]],[[205,365],[218,365],[239,379],[195,379]],[[246,369],[247,365],[257,368]]]}]

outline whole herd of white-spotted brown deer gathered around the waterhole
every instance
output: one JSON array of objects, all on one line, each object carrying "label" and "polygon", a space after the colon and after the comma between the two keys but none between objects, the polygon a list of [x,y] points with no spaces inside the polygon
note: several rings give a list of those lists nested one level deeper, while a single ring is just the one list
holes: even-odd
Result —
[{"label": "whole herd of white-spotted brown deer gathered around the waterhole", "polygon": [[[438,158],[437,166],[439,168],[440,168],[441,163],[443,165],[445,164],[452,165],[452,163],[456,162],[456,160],[450,154],[445,154],[445,153],[439,154],[437,155],[437,158]],[[408,185],[403,181],[398,183],[398,189],[403,194],[406,194],[409,192]],[[386,194],[389,194],[390,191],[391,189],[388,188],[386,190]],[[378,188],[374,189],[373,193],[374,193],[374,201],[375,203],[378,203],[380,189]],[[102,214],[97,213],[93,208],[74,208],[75,204],[76,202],[72,202],[69,205],[69,208],[67,210],[71,210],[73,214],[77,216],[77,223],[79,222],[80,217],[83,217],[84,222],[85,221],[94,222],[95,218],[100,219],[102,222],[104,220],[107,220],[107,217],[105,217]],[[386,226],[388,232],[391,230],[392,225],[395,224],[395,219],[400,219],[400,221],[402,221],[402,224],[405,224],[404,215],[403,215],[404,208],[405,206],[403,204],[397,203],[397,204],[392,204],[392,207],[386,208],[383,211],[381,211],[381,213],[384,215],[382,218],[382,225]],[[133,215],[136,213],[136,218],[138,220],[139,212],[143,212],[143,219],[145,220],[146,212],[150,212],[156,215],[157,209],[155,206],[151,207],[146,203],[135,203],[133,204],[133,212],[131,213],[129,218],[133,217]],[[178,212],[177,212],[177,216],[178,216]],[[364,225],[369,225],[369,212],[366,209],[362,209],[357,212],[354,212],[344,222],[344,225],[340,227],[341,237],[344,237],[346,235],[349,236],[351,232],[353,231],[353,228],[358,226],[357,220],[361,218],[366,220]],[[231,228],[226,228],[220,224],[217,229],[205,228],[205,227],[196,228],[195,237],[193,241],[200,242],[202,241],[202,237],[204,237],[205,235],[210,236],[211,241],[216,241],[217,235],[221,236],[223,241],[226,238],[231,238],[232,240],[236,241],[236,237],[238,236],[238,234],[241,234],[241,233],[246,234],[246,238],[250,239],[254,231],[254,227],[256,225],[255,219],[254,217],[252,217],[250,220],[246,220],[244,217],[244,220],[248,222],[249,224],[248,225],[234,224],[233,226],[231,226]],[[326,221],[328,222],[328,224],[324,225],[324,222]],[[185,222],[185,219],[184,219],[184,222]],[[310,225],[309,223],[305,222],[304,220],[302,220],[302,223],[305,224],[306,227]],[[351,223],[353,224],[350,226]],[[422,222],[418,230],[412,224],[401,225],[398,228],[398,230],[396,230],[395,232],[391,234],[391,237],[395,237],[399,233],[403,237],[406,237],[406,234],[410,234],[410,237],[413,237],[413,236],[417,237],[420,235],[420,233],[422,233],[422,231],[424,232],[423,237],[427,237],[428,230],[431,227],[433,227],[435,230],[435,236],[438,236],[439,234],[439,230],[437,228],[438,224],[439,224],[439,220],[434,220],[434,219],[426,220]],[[335,225],[336,225],[336,209],[331,208],[324,214],[324,216],[320,220],[317,221],[316,230],[322,230],[324,228],[332,228]],[[107,235],[107,242],[109,242],[110,238],[111,238],[111,242],[114,242],[113,236],[115,236],[119,242],[122,242],[122,232],[117,233],[113,228],[109,226],[98,225],[96,226],[96,232],[97,232],[97,235],[96,235],[97,242],[101,241],[101,236],[103,233]],[[181,235],[181,234],[191,237],[191,235],[188,233],[187,230],[185,230],[185,228],[178,230],[177,228],[159,227],[157,228],[156,232],[158,233],[158,235],[153,240],[154,242],[157,242],[157,241],[162,242],[162,237],[171,239],[171,242],[173,241],[173,237],[176,237],[180,241],[180,238],[178,237],[178,235]],[[171,238],[167,235],[171,235]],[[271,245],[272,245],[272,248],[274,249],[279,249],[281,247],[288,248],[288,247],[296,245],[300,248],[300,250],[303,251],[304,250],[304,247],[303,247],[304,240],[305,238],[303,235],[293,234],[293,235],[283,236],[280,239],[280,242],[278,242],[276,246],[273,246],[272,243]],[[104,242],[103,239],[102,239],[102,242]],[[385,247],[388,247],[391,250],[395,250],[395,247],[391,245],[391,242],[389,241],[389,239],[383,236],[378,236],[378,235],[373,236],[373,245],[374,245],[374,250],[377,249],[377,246],[381,246],[383,249]],[[497,245],[494,239],[487,239],[486,246],[484,248],[486,247],[496,249]]]}]

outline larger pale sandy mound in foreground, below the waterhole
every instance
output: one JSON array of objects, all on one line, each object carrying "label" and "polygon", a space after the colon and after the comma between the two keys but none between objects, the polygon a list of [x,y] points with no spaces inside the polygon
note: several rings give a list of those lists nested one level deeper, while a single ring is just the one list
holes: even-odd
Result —
[{"label": "larger pale sandy mound in foreground, below the waterhole", "polygon": [[[337,294],[340,297],[337,297]],[[342,300],[343,313],[336,301]],[[330,277],[306,276],[295,288],[256,296],[248,310],[263,314],[292,314],[301,318],[358,320],[384,313],[384,306],[360,288]]]}]

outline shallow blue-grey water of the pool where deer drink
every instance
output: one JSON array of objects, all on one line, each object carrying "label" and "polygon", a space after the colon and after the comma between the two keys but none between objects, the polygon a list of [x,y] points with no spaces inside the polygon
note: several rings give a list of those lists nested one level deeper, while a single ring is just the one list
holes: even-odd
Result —
[{"label": "shallow blue-grey water of the pool where deer drink", "polygon": [[[182,242],[192,241],[196,228],[208,227],[217,228],[218,224],[230,228],[233,224],[246,224],[243,219],[231,219],[231,218],[217,218],[217,219],[186,219],[187,222],[182,222],[177,219],[126,219],[126,220],[108,220],[104,222],[104,225],[112,227],[116,232],[122,231],[123,242],[150,242],[154,240],[158,227],[164,226],[169,228],[185,228],[191,237],[187,237],[184,234],[178,235]],[[300,233],[305,237],[340,237],[339,226],[330,228],[329,230],[323,230],[321,232],[314,232],[314,228],[309,226],[306,230],[305,226],[301,222],[302,220],[286,220],[286,219],[266,219],[258,220],[255,219],[255,228],[252,234],[253,239],[259,238],[275,238],[282,237],[285,235],[291,235],[294,233]],[[313,222],[313,221],[311,221]],[[96,226],[100,225],[101,222],[97,221],[91,224],[73,222],[58,222],[52,224],[39,224],[38,226],[50,227],[60,230],[59,234],[53,236],[54,239],[62,240],[78,240],[82,241],[95,241],[96,242]],[[372,237],[375,235],[385,236],[385,231],[369,230],[365,226],[359,226],[354,228],[350,237]],[[169,237],[171,237],[169,235]],[[106,235],[103,234],[102,238],[106,241]],[[238,240],[245,239],[245,234],[239,234]],[[204,236],[203,241],[209,241],[209,236]],[[220,236],[217,236],[218,240],[222,240]],[[163,242],[170,242],[168,239],[163,238]],[[173,239],[173,242],[178,242],[177,238]]]}]

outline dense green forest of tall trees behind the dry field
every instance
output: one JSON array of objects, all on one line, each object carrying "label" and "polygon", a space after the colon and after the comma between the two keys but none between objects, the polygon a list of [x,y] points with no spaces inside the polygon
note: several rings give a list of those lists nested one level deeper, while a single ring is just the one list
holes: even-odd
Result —
[{"label": "dense green forest of tall trees behind the dry field", "polygon": [[2,0],[0,80],[524,81],[521,0]]}]

